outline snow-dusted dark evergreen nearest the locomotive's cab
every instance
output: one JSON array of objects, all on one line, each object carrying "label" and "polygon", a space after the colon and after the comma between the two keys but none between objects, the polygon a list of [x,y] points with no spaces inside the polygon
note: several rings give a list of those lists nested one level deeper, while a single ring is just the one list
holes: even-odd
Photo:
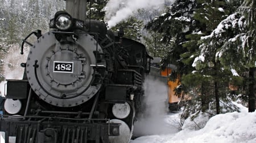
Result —
[{"label": "snow-dusted dark evergreen nearest the locomotive's cab", "polygon": [[[146,25],[146,29],[161,33],[163,36],[160,41],[166,45],[168,52],[164,55],[162,60],[162,68],[168,64],[175,64],[177,66],[176,74],[182,75],[186,72],[186,66],[180,59],[180,54],[185,53],[187,49],[183,48],[186,42],[185,35],[191,33],[192,23],[191,17],[196,3],[193,1],[175,1],[170,7],[167,7],[167,12],[158,18],[155,18]],[[166,48],[164,47],[164,48]]]}]

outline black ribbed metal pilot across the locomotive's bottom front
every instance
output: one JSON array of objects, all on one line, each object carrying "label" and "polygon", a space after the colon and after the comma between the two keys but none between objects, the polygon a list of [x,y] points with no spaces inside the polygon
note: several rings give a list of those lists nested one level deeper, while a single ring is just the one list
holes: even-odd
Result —
[{"label": "black ribbed metal pilot across the locomotive's bottom front", "polygon": [[[5,118],[7,119],[7,118]],[[47,119],[40,121],[0,120],[0,131],[5,132],[5,142],[9,142],[9,136],[16,136],[16,142],[35,143],[62,143],[62,142],[87,142],[94,140],[108,142],[113,128],[119,128],[115,123],[72,123],[51,122]],[[94,120],[94,119],[92,119]],[[94,120],[95,122],[96,120]],[[115,135],[116,136],[116,135]]]}]

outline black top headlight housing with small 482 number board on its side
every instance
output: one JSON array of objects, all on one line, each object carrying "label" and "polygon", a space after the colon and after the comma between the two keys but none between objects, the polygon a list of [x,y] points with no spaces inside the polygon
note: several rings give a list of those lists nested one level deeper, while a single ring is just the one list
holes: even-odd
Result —
[{"label": "black top headlight housing with small 482 number board on its side", "polygon": [[73,31],[75,29],[83,29],[84,25],[84,21],[72,18],[65,11],[58,11],[54,18],[50,20],[49,28],[59,29],[59,31]]}]

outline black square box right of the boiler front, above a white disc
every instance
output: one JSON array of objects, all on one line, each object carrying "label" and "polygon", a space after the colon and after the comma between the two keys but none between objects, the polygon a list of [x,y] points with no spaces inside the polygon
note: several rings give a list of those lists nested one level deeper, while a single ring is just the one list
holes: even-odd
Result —
[{"label": "black square box right of the boiler front, above a white disc", "polygon": [[126,101],[126,86],[106,86],[106,101],[110,103],[125,103]]}]

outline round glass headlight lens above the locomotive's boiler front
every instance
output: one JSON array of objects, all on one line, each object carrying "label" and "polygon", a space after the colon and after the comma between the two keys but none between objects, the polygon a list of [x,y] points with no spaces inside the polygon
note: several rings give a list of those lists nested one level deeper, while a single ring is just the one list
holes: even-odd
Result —
[{"label": "round glass headlight lens above the locomotive's boiler front", "polygon": [[72,18],[69,15],[61,14],[56,18],[56,27],[60,30],[67,30],[72,25]]}]

